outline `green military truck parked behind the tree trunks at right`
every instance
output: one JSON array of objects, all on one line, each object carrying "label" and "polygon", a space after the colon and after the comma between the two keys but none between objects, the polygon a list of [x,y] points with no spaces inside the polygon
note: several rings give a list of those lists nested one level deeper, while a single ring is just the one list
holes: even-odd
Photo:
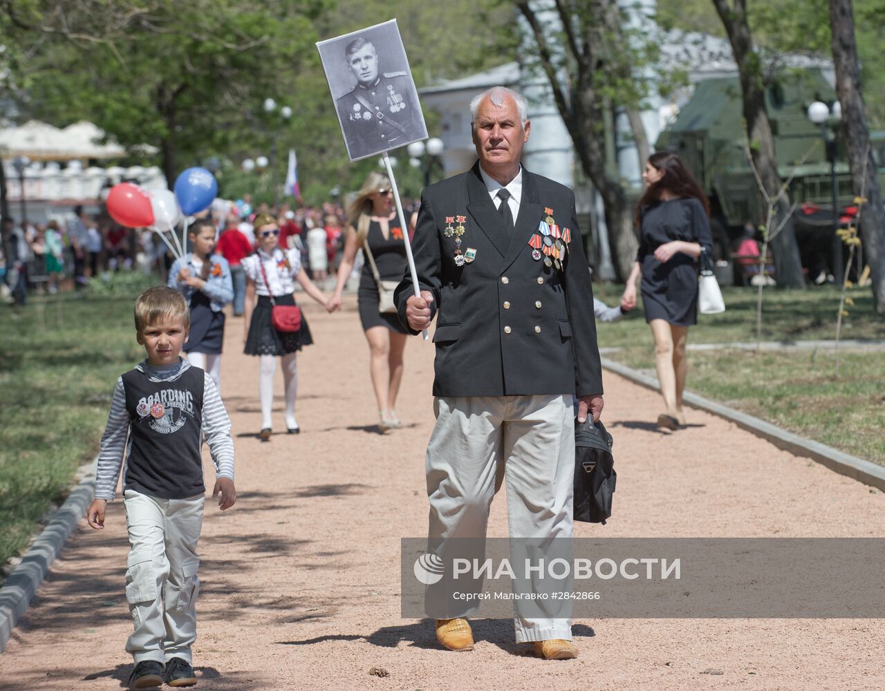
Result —
[{"label": "green military truck parked behind the tree trunks at right", "polygon": [[[810,280],[832,266],[832,176],[820,127],[806,116],[809,104],[835,100],[835,90],[820,69],[791,71],[766,89],[774,153],[781,180],[792,182],[796,234],[804,269]],[[873,157],[885,180],[885,133],[873,133]],[[720,282],[734,275],[732,250],[744,226],[758,227],[766,204],[759,194],[745,153],[741,86],[737,78],[701,81],[679,117],[658,137],[657,150],[678,154],[710,197],[713,241],[722,265]],[[840,215],[850,211],[854,195],[847,158],[838,143],[836,173]],[[720,262],[721,265],[721,262]],[[826,275],[826,274],[825,274]]]}]

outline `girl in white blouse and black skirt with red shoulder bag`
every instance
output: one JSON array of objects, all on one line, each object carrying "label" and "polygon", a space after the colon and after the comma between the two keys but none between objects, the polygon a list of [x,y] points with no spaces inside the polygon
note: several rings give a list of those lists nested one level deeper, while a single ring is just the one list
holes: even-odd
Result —
[{"label": "girl in white blouse and black skirt with red shoulder bag", "polygon": [[295,417],[298,388],[296,353],[302,346],[313,342],[304,315],[301,328],[296,332],[284,333],[273,327],[271,296],[278,305],[294,305],[295,281],[298,281],[304,292],[328,311],[334,311],[335,305],[329,305],[326,296],[313,285],[301,265],[299,251],[281,250],[280,226],[273,217],[266,213],[259,214],[254,225],[258,250],[242,260],[242,270],[246,274],[243,315],[249,324],[244,352],[246,355],[257,355],[260,360],[258,396],[261,399],[261,432],[258,438],[270,441],[276,358],[279,356],[282,359],[283,380],[286,383],[286,429],[289,434],[298,434],[301,430]]}]

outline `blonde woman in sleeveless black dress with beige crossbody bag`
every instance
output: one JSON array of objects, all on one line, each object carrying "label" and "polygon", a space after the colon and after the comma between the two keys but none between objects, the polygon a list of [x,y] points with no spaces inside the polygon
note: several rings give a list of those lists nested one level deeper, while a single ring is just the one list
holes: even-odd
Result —
[{"label": "blonde woman in sleeveless black dress with beige crossbody bag", "polygon": [[370,173],[348,209],[350,226],[344,252],[338,266],[335,295],[330,303],[337,307],[358,250],[363,250],[363,271],[359,278],[359,320],[369,342],[369,372],[381,418],[381,431],[401,426],[396,418],[396,394],[403,380],[403,352],[409,332],[400,324],[396,312],[379,311],[378,285],[375,282],[366,247],[372,253],[381,280],[402,280],[408,262],[405,258],[403,229],[396,218],[390,181],[381,173]]}]

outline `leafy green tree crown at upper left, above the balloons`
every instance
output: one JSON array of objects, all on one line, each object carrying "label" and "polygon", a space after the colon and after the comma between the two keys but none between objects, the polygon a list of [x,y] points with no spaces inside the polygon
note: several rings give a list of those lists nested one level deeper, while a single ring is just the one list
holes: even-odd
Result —
[{"label": "leafy green tree crown at upper left, above the balloons", "polygon": [[[24,34],[19,43],[42,40],[28,61],[22,113],[87,118],[124,146],[154,144],[170,183],[180,158],[190,165],[254,131],[250,117],[279,75],[304,68],[321,8],[307,0],[82,1],[75,16],[84,27],[72,38],[62,31],[71,3],[27,3],[27,14],[17,12],[24,3],[6,4]],[[128,19],[103,27],[109,5]]]}]

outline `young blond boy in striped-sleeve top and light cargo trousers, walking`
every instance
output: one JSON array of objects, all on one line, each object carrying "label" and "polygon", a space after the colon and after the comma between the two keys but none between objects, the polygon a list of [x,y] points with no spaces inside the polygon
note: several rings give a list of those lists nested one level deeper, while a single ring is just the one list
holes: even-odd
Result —
[{"label": "young blond boy in striped-sleeve top and light cargo trousers, walking", "polygon": [[[150,288],[135,301],[137,341],[147,358],[117,380],[102,437],[96,499],[89,526],[104,511],[123,470],[123,510],[131,545],[126,599],[135,631],[130,688],[196,684],[190,647],[196,640],[204,480],[200,449],[209,444],[219,507],[234,505],[234,441],[215,384],[179,357],[189,329],[188,304],[173,288]],[[127,441],[128,440],[128,441]]]}]

